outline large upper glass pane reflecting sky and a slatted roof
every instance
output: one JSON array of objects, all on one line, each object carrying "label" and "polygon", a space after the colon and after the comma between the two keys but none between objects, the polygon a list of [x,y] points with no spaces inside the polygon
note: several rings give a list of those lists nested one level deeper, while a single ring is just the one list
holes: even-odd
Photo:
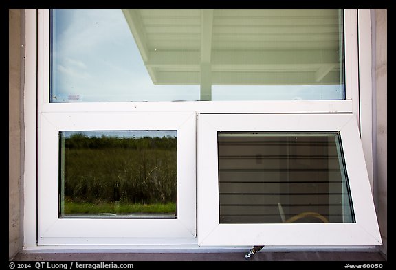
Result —
[{"label": "large upper glass pane reflecting sky and a slatted roof", "polygon": [[51,14],[51,102],[345,98],[343,10]]}]

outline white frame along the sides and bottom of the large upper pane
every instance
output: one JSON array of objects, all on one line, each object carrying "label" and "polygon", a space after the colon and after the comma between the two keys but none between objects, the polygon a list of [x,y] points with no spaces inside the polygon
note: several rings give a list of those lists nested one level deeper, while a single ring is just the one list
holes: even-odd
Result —
[{"label": "white frame along the sides and bottom of the large upper pane", "polygon": [[[196,111],[197,113],[355,113],[359,109],[358,10],[344,10],[345,100],[50,103],[50,10],[38,10],[38,111]],[[243,86],[241,86],[243,89]]]}]

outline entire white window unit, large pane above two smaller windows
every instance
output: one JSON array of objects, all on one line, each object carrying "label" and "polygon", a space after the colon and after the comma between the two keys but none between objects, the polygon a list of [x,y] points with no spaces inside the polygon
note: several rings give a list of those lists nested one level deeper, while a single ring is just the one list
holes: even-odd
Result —
[{"label": "entire white window unit, large pane above two smaller windows", "polygon": [[[25,212],[34,213],[25,216],[37,225],[28,229],[30,239],[37,240],[30,243],[380,245],[369,183],[364,170],[356,170],[364,168],[364,161],[353,124],[359,115],[355,13],[39,10],[37,21],[29,21],[38,25],[38,111],[29,112],[38,115],[38,179],[27,193],[36,194],[37,188],[37,203],[27,196],[25,205]],[[129,173],[129,180],[121,181],[123,169],[133,175],[142,166],[118,164],[142,156],[135,146],[114,145],[123,138],[127,145],[137,144],[141,134],[151,142],[173,137],[176,148],[169,151],[177,157],[166,158],[177,166],[176,172],[167,170],[177,175],[173,195],[146,193],[136,188],[140,182],[131,188],[139,175]],[[78,136],[84,144],[72,147]],[[257,146],[264,150],[244,156],[237,146],[227,145],[230,138],[287,146],[274,146],[272,154]],[[295,144],[296,138],[306,148]],[[124,159],[107,175],[110,187],[102,189],[100,170],[109,169],[100,163],[96,145],[110,141],[109,157],[113,153],[114,160]],[[92,144],[96,150],[88,153],[86,146]],[[142,152],[154,153],[151,146],[155,144],[141,147]],[[225,153],[235,150],[231,157]],[[269,155],[277,163],[272,170],[285,172],[274,172],[279,184],[260,180],[245,185],[256,173],[254,166],[268,166]],[[89,165],[79,164],[80,158],[89,159]],[[239,158],[248,166],[241,174],[232,171],[237,169],[232,162],[242,162]],[[141,172],[155,175],[166,162],[158,157],[154,167]],[[294,181],[313,164],[315,178],[304,180],[313,185]],[[266,173],[268,177],[270,171]],[[234,183],[238,177],[243,183]],[[242,205],[253,198],[249,192],[257,190],[266,200],[268,188],[283,199],[268,197],[264,204],[272,209],[256,220],[241,215],[256,214],[252,207],[263,204],[254,198]],[[294,200],[290,190],[309,196],[315,205]],[[230,205],[227,200],[235,192],[241,201],[232,199],[236,205]],[[173,206],[153,214],[138,208],[157,201]],[[100,207],[84,210],[85,204]]]}]

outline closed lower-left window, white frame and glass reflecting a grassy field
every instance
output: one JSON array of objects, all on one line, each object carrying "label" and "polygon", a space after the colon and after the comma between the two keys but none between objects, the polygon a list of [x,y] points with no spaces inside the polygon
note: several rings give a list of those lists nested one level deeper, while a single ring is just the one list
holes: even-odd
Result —
[{"label": "closed lower-left window, white frame and glass reflecting a grassy field", "polygon": [[45,113],[39,146],[39,244],[195,239],[195,113]]}]

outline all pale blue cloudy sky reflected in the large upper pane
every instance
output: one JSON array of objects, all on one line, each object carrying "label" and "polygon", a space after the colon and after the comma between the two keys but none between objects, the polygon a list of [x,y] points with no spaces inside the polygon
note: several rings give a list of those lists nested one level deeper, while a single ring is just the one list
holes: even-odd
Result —
[{"label": "all pale blue cloudy sky reflected in the large upper pane", "polygon": [[[121,10],[54,10],[52,21],[54,102],[199,100],[199,85],[153,85]],[[343,98],[344,85],[212,86],[212,100]]]}]

